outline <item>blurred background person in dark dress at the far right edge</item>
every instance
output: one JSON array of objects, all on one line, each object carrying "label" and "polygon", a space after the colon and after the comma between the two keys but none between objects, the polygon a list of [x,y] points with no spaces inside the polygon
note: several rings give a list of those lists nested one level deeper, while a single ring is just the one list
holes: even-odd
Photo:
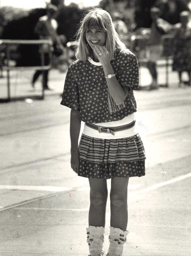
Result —
[{"label": "blurred background person in dark dress at the far right edge", "polygon": [[191,24],[189,11],[180,13],[180,23],[177,24],[176,27],[172,69],[178,71],[178,85],[179,87],[183,87],[183,71],[188,73],[189,80],[187,81],[187,84],[191,85]]}]

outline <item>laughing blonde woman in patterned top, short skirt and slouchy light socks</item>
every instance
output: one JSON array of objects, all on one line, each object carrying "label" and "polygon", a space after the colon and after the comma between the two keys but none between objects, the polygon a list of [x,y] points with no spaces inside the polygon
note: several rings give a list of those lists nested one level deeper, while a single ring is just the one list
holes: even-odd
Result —
[{"label": "laughing blonde woman in patterned top, short skirt and slouchy light socks", "polygon": [[[86,14],[77,36],[78,60],[68,68],[61,101],[71,108],[71,168],[89,179],[87,242],[91,256],[104,253],[107,179],[111,178],[107,255],[122,255],[128,234],[128,180],[145,175],[145,152],[134,120],[138,62],[102,9]],[[85,125],[78,148],[81,121]]]}]

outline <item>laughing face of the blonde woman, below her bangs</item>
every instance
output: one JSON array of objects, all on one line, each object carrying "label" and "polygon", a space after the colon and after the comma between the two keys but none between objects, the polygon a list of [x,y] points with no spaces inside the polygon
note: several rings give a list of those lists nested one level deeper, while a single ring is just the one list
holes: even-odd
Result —
[{"label": "laughing face of the blonde woman, below her bangs", "polygon": [[86,30],[86,40],[90,47],[93,49],[95,45],[104,46],[106,43],[106,32],[101,29]]}]

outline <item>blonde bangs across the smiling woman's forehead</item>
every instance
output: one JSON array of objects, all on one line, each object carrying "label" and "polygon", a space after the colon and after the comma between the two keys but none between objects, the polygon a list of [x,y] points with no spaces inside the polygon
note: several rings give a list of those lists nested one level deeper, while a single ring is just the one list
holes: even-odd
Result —
[{"label": "blonde bangs across the smiling woman's forehead", "polygon": [[98,15],[92,15],[89,19],[84,21],[83,29],[85,31],[90,29],[101,29],[103,31],[106,31],[103,20]]}]

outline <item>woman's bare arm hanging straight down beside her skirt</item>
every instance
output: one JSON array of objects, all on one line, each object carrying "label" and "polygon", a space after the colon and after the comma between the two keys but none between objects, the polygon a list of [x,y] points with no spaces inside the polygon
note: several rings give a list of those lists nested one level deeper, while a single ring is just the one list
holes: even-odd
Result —
[{"label": "woman's bare arm hanging straight down beside her skirt", "polygon": [[81,119],[80,111],[72,110],[70,112],[70,140],[71,140],[71,168],[74,172],[79,171],[79,150],[78,139],[80,135]]}]

